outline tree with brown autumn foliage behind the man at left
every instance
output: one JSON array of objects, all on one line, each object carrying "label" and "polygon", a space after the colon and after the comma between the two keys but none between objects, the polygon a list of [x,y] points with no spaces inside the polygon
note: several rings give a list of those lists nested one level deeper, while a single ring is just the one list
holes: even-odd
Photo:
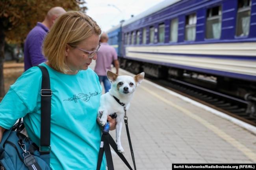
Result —
[{"label": "tree with brown autumn foliage behind the man at left", "polygon": [[4,44],[23,43],[29,31],[44,20],[52,7],[83,11],[84,0],[0,0],[0,97],[4,91]]}]

